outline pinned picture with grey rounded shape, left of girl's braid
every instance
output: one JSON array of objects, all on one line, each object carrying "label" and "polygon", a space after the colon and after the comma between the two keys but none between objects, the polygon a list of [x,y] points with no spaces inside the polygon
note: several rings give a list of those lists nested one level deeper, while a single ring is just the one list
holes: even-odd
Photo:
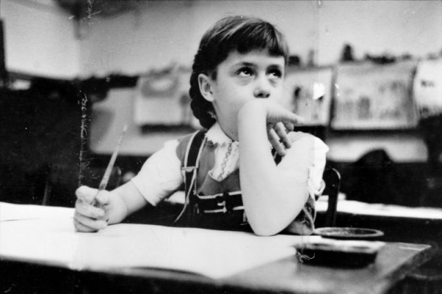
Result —
[{"label": "pinned picture with grey rounded shape, left of girl's braid", "polygon": [[134,122],[140,127],[198,128],[190,107],[190,69],[172,66],[141,75],[134,97]]}]

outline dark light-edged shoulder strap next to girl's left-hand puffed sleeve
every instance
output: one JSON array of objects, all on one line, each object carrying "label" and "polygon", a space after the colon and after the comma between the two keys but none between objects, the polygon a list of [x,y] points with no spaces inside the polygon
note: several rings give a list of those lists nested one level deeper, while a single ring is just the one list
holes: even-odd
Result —
[{"label": "dark light-edged shoulder strap next to girl's left-hand puffed sleeve", "polygon": [[186,154],[184,155],[184,166],[182,167],[182,170],[184,170],[184,188],[186,199],[184,202],[184,208],[182,209],[180,215],[178,215],[178,217],[175,219],[175,222],[177,222],[178,219],[180,219],[184,214],[187,206],[189,206],[191,197],[196,195],[197,187],[195,180],[197,177],[200,155],[206,141],[206,138],[204,137],[205,133],[206,130],[198,130],[197,132],[193,133],[191,139],[189,140],[189,144],[187,144]]}]

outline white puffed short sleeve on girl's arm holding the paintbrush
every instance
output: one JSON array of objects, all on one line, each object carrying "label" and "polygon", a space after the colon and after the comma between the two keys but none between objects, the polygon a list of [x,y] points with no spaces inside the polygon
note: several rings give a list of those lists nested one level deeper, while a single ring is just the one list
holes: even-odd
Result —
[{"label": "white puffed short sleeve on girl's arm holding the paintbrush", "polygon": [[176,154],[177,146],[177,140],[167,141],[162,149],[144,162],[140,172],[131,179],[153,206],[169,197],[183,183],[181,161]]}]

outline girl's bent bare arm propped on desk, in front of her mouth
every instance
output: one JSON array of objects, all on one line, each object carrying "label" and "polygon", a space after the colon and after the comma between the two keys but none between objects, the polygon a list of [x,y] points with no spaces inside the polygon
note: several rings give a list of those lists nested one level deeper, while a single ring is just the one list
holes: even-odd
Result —
[{"label": "girl's bent bare arm propped on desk, in front of her mouth", "polygon": [[[255,99],[238,112],[240,183],[244,209],[257,235],[273,235],[300,213],[308,197],[309,167],[313,162],[314,137],[296,140],[290,162],[276,166],[269,150],[268,126],[296,124],[300,117],[271,101]],[[296,164],[294,174],[287,164]],[[291,170],[294,170],[291,168]]]}]

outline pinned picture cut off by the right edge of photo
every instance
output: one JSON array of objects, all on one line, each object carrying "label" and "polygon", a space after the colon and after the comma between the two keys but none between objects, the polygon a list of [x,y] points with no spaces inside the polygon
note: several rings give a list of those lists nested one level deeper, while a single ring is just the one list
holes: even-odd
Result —
[{"label": "pinned picture cut off by the right edge of photo", "polygon": [[442,114],[442,59],[419,62],[413,83],[413,95],[419,117]]}]

